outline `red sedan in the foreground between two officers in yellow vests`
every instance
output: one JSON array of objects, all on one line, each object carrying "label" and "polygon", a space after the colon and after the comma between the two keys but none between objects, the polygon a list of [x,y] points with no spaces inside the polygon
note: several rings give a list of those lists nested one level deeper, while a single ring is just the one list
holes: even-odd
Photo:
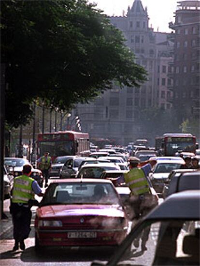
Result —
[{"label": "red sedan in the foreground between two officers in yellow vests", "polygon": [[46,190],[35,218],[35,248],[118,246],[128,219],[114,185],[104,179],[59,179]]}]

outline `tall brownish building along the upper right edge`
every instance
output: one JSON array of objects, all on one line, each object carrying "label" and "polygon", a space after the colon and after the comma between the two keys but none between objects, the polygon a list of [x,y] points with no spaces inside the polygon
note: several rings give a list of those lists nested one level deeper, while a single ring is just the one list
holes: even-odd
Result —
[{"label": "tall brownish building along the upper right edge", "polygon": [[181,122],[200,113],[200,1],[179,1],[170,28],[175,30],[173,106]]}]

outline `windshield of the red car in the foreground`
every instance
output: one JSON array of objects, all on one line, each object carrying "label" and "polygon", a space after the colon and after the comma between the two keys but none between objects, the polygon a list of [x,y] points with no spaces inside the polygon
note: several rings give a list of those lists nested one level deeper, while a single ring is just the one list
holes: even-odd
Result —
[{"label": "windshield of the red car in the foreground", "polygon": [[52,183],[41,206],[53,204],[120,204],[112,184],[99,182]]}]

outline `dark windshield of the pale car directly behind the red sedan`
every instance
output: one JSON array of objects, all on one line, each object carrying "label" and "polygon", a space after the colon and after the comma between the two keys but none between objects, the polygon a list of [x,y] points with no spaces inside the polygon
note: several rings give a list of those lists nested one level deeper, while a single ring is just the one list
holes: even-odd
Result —
[{"label": "dark windshield of the pale car directly behind the red sedan", "polygon": [[100,178],[100,175],[106,170],[117,170],[114,167],[84,167],[80,170],[78,177]]}]

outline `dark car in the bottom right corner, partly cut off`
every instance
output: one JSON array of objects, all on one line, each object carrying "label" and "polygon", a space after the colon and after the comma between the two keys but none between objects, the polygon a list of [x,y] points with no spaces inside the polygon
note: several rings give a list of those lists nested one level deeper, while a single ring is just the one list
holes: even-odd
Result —
[{"label": "dark car in the bottom right corner, partly cut off", "polygon": [[[136,240],[146,234],[146,250],[141,250]],[[200,192],[178,192],[133,227],[109,262],[92,266],[200,265],[199,237]]]}]

